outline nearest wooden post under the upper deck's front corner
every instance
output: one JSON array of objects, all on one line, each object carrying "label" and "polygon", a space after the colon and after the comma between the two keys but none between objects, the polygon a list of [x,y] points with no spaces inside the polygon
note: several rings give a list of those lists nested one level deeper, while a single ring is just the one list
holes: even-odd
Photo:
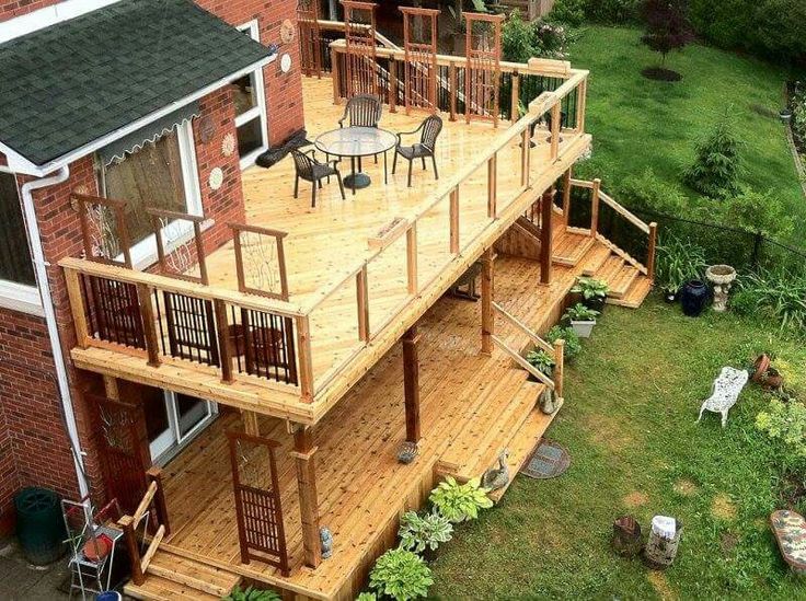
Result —
[{"label": "nearest wooden post under the upper deck's front corner", "polygon": [[313,428],[298,426],[293,431],[297,488],[299,492],[299,512],[302,523],[302,548],[308,567],[315,568],[322,563],[322,545],[319,540],[319,498],[316,496],[316,462],[313,444]]}]

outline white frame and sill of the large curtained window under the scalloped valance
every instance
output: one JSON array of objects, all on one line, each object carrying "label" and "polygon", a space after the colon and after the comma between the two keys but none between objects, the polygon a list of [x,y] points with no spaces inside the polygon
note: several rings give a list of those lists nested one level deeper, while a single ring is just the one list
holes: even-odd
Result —
[{"label": "white frame and sill of the large curtained window under the scalloped valance", "polygon": [[[202,216],[202,187],[198,180],[198,163],[196,161],[196,146],[193,139],[193,126],[191,120],[184,120],[176,127],[176,141],[180,147],[180,160],[182,167],[182,183],[185,188],[185,210],[189,215]],[[126,159],[124,159],[125,161]],[[104,167],[105,169],[105,167]],[[105,175],[104,175],[105,178]],[[104,195],[106,195],[106,182],[104,181]],[[124,198],[125,200],[125,198]],[[175,222],[168,226],[171,228]],[[209,226],[203,224],[203,229]],[[165,229],[162,234],[166,252],[184,244],[193,235],[193,223],[180,221],[179,235],[168,240]],[[131,266],[135,269],[145,269],[157,263],[157,236],[154,234],[143,238],[131,246]],[[117,257],[123,261],[123,255]]]}]

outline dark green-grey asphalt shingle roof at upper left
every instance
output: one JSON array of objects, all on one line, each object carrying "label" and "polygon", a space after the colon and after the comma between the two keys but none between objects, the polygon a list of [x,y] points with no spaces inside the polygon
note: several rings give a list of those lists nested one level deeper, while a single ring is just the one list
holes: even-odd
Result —
[{"label": "dark green-grey asphalt shingle roof at upper left", "polygon": [[268,56],[191,0],[122,0],[0,45],[0,141],[43,165]]}]

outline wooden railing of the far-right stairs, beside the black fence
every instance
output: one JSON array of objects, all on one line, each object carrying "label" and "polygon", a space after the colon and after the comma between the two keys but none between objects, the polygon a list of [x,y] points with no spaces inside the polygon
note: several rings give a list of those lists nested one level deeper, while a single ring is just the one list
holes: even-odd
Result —
[{"label": "wooden railing of the far-right stairs, beside the black fence", "polygon": [[[569,175],[569,174],[568,174]],[[579,193],[584,194],[579,194]],[[588,203],[585,207],[589,208],[589,226],[575,227],[572,226],[575,221],[575,215],[573,211],[578,210],[575,204],[572,203],[572,198],[587,198]],[[624,206],[615,201],[611,196],[606,194],[601,189],[601,181],[584,181],[575,180],[571,176],[566,176],[563,182],[563,195],[562,195],[562,209],[561,212],[565,217],[566,229],[574,233],[580,233],[589,235],[597,241],[608,246],[614,254],[619,255],[624,262],[635,267],[643,275],[648,277],[650,280],[655,279],[655,253],[657,245],[657,223],[646,223]],[[612,240],[602,235],[600,232],[600,224],[602,221],[602,212],[608,210],[611,212],[611,219],[621,220],[629,228],[635,229],[646,236],[646,243],[644,249],[641,251],[644,253],[643,257],[632,256],[627,251],[618,246]]]}]

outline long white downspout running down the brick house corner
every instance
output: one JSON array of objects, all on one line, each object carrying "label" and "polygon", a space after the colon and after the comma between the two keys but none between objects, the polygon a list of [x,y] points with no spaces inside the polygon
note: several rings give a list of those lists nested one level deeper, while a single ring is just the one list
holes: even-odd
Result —
[{"label": "long white downspout running down the brick house corner", "polygon": [[45,312],[45,322],[47,323],[47,332],[50,337],[50,348],[53,349],[54,363],[56,366],[56,380],[59,385],[59,396],[61,397],[61,406],[65,412],[65,424],[67,426],[67,436],[70,439],[72,448],[72,459],[76,464],[76,476],[78,477],[79,492],[81,497],[85,497],[90,488],[84,475],[84,458],[79,441],[79,431],[76,424],[76,414],[72,411],[72,401],[70,398],[70,385],[67,380],[67,368],[65,366],[65,356],[61,352],[61,342],[59,338],[59,328],[56,324],[56,313],[54,312],[54,300],[50,296],[50,284],[47,278],[47,263],[45,262],[45,253],[42,249],[42,239],[39,238],[39,226],[36,222],[36,211],[34,210],[33,192],[56,184],[67,182],[70,176],[70,167],[62,166],[55,175],[44,177],[42,180],[33,180],[22,185],[20,194],[22,196],[23,212],[25,213],[25,227],[27,229],[28,241],[31,244],[31,253],[34,258],[34,271],[36,281],[39,285],[39,296],[42,297],[42,308]]}]

